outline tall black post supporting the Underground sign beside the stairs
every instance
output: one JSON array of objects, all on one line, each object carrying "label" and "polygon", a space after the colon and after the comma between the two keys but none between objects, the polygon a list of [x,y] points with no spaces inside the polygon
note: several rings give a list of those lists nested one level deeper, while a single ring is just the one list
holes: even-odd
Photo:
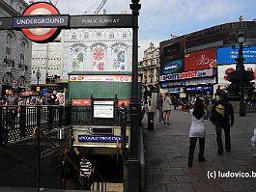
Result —
[{"label": "tall black post supporting the Underground sign beside the stairs", "polygon": [[138,15],[139,0],[131,0],[132,27],[132,83],[130,98],[130,156],[128,158],[128,191],[139,191],[139,96],[138,96]]}]

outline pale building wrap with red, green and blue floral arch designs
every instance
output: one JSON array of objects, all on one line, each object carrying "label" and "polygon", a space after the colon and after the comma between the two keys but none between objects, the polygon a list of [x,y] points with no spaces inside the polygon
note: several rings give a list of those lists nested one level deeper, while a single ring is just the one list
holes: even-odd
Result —
[{"label": "pale building wrap with red, green and blue floral arch designs", "polygon": [[63,30],[63,76],[71,71],[130,71],[131,29]]}]

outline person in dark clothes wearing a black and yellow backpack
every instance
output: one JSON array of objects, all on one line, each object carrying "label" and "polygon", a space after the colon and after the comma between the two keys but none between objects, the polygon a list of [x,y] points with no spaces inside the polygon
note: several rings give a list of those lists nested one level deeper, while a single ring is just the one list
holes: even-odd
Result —
[{"label": "person in dark clothes wearing a black and yellow backpack", "polygon": [[215,125],[217,153],[223,154],[222,129],[225,133],[225,149],[231,151],[230,126],[234,124],[234,110],[232,104],[226,100],[224,92],[219,93],[219,100],[213,105],[210,121]]}]

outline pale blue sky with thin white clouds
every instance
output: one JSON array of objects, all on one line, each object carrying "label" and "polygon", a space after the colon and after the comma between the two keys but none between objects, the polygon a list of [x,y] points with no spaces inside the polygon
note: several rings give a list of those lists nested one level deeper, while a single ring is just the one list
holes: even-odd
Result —
[{"label": "pale blue sky with thin white clouds", "polygon": [[[56,0],[51,0],[55,2]],[[94,14],[102,0],[57,0],[61,14]],[[130,13],[131,0],[108,0],[107,14]],[[150,42],[185,35],[214,25],[256,18],[256,0],[141,0],[139,16],[139,60]],[[100,12],[102,14],[102,10]]]}]

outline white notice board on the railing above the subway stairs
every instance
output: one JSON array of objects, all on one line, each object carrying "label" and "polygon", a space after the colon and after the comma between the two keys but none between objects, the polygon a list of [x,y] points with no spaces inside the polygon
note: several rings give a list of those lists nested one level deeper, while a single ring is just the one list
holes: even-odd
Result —
[{"label": "white notice board on the railing above the subway stairs", "polygon": [[114,118],[114,101],[94,101],[94,118]]}]

